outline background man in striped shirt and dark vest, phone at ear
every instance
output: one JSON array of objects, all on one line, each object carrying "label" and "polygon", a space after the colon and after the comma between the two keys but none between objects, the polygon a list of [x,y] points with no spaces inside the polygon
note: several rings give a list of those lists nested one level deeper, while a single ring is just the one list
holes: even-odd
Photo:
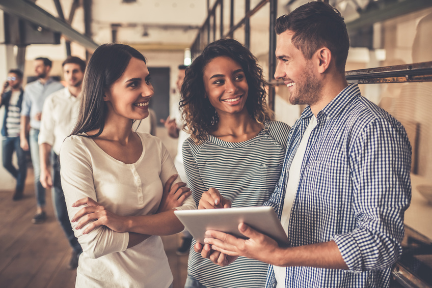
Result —
[{"label": "background man in striped shirt and dark vest, phone at ear", "polygon": [[[27,176],[27,160],[24,150],[20,147],[19,124],[22,98],[22,72],[17,69],[9,70],[7,81],[3,84],[0,107],[5,105],[5,117],[3,119],[2,159],[3,167],[15,178],[16,188],[12,197],[14,201],[22,198],[25,178]],[[18,169],[12,164],[13,152],[16,153]]]}]

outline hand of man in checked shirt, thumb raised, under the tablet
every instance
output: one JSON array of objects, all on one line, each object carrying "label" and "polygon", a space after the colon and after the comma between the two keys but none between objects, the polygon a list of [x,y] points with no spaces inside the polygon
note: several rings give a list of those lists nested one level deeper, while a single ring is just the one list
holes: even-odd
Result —
[{"label": "hand of man in checked shirt, thumb raised, under the tablet", "polygon": [[275,240],[257,232],[245,223],[238,224],[238,231],[249,239],[244,240],[223,232],[209,230],[205,234],[204,243],[209,244],[211,249],[229,256],[245,256],[276,266],[283,265],[283,261],[278,256],[286,248],[280,248]]}]

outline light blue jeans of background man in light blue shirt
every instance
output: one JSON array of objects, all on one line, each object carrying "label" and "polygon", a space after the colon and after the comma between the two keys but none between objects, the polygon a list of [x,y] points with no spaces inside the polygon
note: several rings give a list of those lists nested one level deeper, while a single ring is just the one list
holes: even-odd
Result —
[{"label": "light blue jeans of background man in light blue shirt", "polygon": [[35,174],[35,194],[38,207],[45,207],[45,188],[39,181],[40,178],[40,159],[38,145],[39,129],[30,129],[30,154],[32,156],[33,171]]}]

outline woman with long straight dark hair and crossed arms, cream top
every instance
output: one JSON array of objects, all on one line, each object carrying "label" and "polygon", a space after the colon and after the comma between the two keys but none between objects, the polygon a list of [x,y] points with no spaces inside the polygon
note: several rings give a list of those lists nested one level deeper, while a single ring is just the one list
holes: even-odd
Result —
[{"label": "woman with long straight dark hair and crossed arms, cream top", "polygon": [[[105,44],[92,55],[76,127],[60,152],[79,256],[77,287],[169,287],[160,235],[183,229],[174,209],[195,209],[160,139],[132,131],[153,96],[145,57]],[[84,205],[84,206],[83,206]]]}]

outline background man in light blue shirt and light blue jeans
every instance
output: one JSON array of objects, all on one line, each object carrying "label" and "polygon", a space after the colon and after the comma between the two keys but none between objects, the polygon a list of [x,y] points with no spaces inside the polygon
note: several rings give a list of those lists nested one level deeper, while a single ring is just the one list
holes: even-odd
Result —
[{"label": "background man in light blue shirt and light blue jeans", "polygon": [[[32,219],[32,222],[35,224],[44,222],[46,219],[45,188],[43,188],[39,181],[40,160],[38,145],[43,102],[45,101],[45,98],[48,97],[48,95],[64,88],[59,81],[56,81],[49,76],[51,67],[52,62],[47,58],[38,57],[35,59],[34,69],[38,80],[33,81],[25,86],[24,98],[21,108],[21,148],[24,151],[28,151],[30,142],[30,153],[32,156],[33,171],[35,175],[37,210],[35,216]],[[29,135],[28,127],[30,127],[29,141],[27,140],[27,136]]]}]

